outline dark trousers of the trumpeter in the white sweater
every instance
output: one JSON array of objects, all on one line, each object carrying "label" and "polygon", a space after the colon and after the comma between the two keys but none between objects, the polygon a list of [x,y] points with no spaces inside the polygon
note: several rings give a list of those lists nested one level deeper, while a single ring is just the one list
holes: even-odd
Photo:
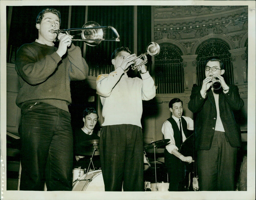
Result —
[{"label": "dark trousers of the trumpeter in the white sweater", "polygon": [[105,191],[143,191],[143,137],[141,127],[103,126],[100,163]]}]

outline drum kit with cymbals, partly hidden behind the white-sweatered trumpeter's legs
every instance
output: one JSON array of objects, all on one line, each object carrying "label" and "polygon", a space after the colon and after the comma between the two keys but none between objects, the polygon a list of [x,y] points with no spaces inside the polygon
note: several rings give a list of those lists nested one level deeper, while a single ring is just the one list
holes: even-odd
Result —
[{"label": "drum kit with cymbals, partly hidden behind the white-sweatered trumpeter's legs", "polygon": [[[156,164],[164,163],[164,158],[156,159],[156,148],[169,144],[170,139],[158,140],[155,142],[150,142],[143,147],[144,150],[144,171],[152,165],[155,165],[155,179],[156,179]],[[82,156],[92,156],[90,158],[89,166],[86,169],[81,169],[81,167],[73,169],[73,187],[72,191],[105,191],[103,176],[101,170],[95,170],[92,158],[94,155],[100,155],[99,140],[88,140],[83,142],[83,152],[80,152]],[[148,161],[146,151],[154,148],[154,162]],[[92,165],[92,169],[90,166]],[[167,182],[156,182],[151,183],[148,181],[144,182],[145,191],[168,191],[169,183]]]}]

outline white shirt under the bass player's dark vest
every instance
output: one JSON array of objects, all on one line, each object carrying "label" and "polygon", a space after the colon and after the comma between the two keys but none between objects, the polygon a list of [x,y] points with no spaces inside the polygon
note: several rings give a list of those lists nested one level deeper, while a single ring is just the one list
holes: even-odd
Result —
[{"label": "white shirt under the bass player's dark vest", "polygon": [[[187,129],[188,130],[194,130],[194,121],[193,119],[191,119],[190,117],[185,117],[185,116],[182,116],[183,119],[186,120],[187,122]],[[172,118],[176,121],[179,129],[180,129],[180,122],[179,122],[179,119],[180,118],[177,118],[175,117],[174,115],[172,115]],[[182,123],[182,122],[181,122]],[[182,125],[181,125],[181,129],[182,129]],[[187,138],[183,132],[183,129],[181,130],[182,132],[182,142],[184,142]],[[172,124],[166,120],[164,121],[164,124],[162,126],[162,133],[164,135],[164,139],[170,139],[170,144],[166,145],[165,148],[168,150],[169,153],[172,154],[172,150],[173,149],[178,149],[178,147],[175,145],[175,140],[174,140],[174,137],[173,137],[173,129],[172,129]]]}]

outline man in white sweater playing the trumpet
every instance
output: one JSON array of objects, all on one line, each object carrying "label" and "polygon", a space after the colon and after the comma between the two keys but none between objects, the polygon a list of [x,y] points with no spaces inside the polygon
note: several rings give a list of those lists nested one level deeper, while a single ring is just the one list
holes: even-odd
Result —
[{"label": "man in white sweater playing the trumpet", "polygon": [[117,48],[111,56],[115,70],[100,74],[97,93],[103,105],[100,134],[100,163],[105,191],[143,191],[142,100],[156,96],[154,80],[141,66],[141,79],[127,76],[135,60],[127,47]]}]

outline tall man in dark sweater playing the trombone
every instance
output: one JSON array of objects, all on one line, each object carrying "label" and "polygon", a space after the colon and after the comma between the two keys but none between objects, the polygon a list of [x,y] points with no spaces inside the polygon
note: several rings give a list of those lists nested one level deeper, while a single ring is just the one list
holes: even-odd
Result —
[{"label": "tall man in dark sweater playing the trombone", "polygon": [[[60,12],[47,8],[36,19],[38,39],[22,45],[15,62],[21,108],[20,190],[71,190],[73,134],[68,104],[70,81],[83,80],[88,65],[72,36],[51,30],[60,28]],[[45,177],[45,179],[44,179]]]}]

